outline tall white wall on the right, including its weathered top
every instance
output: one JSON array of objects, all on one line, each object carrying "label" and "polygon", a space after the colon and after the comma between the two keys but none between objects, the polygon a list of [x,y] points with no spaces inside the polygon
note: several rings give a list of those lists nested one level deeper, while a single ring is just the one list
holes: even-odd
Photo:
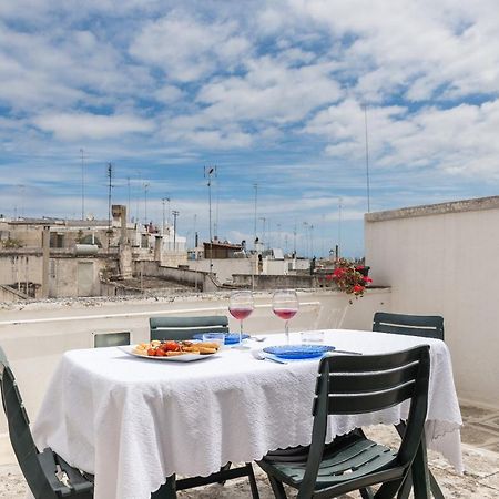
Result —
[{"label": "tall white wall on the right, including its weathered top", "polygon": [[499,407],[499,196],[367,214],[365,244],[391,312],[444,316],[459,397]]}]

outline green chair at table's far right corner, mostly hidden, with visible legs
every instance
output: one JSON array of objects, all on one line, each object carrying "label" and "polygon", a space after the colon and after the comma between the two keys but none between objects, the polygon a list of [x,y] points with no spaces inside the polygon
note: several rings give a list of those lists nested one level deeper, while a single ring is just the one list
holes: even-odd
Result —
[{"label": "green chair at table's far right corner, mostly hidden, with visible legs", "polygon": [[[373,330],[396,335],[421,336],[424,338],[435,338],[444,342],[444,317],[439,315],[408,315],[376,312],[373,319]],[[405,427],[404,421],[395,425],[400,437],[404,435]],[[431,472],[429,472],[429,480],[435,499],[444,499],[444,493]],[[409,477],[404,485],[404,489],[399,491],[398,499],[407,499],[410,487],[411,480]]]}]

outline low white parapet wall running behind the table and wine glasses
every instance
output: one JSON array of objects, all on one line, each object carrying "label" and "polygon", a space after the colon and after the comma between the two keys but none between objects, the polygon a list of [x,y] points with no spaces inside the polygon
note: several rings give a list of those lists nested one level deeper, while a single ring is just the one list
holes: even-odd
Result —
[{"label": "low white parapet wall running behind the table and wine glasses", "polygon": [[[93,335],[130,332],[131,342],[149,338],[149,318],[160,315],[226,315],[231,330],[238,323],[228,315],[230,292],[192,294],[150,299],[69,299],[0,307],[0,345],[6,350],[31,419],[47,390],[62,354],[91,348]],[[390,308],[390,291],[369,289],[353,304],[344,293],[298,292],[299,312],[289,322],[291,330],[370,329],[373,314]],[[255,293],[255,310],[244,322],[251,334],[282,333],[284,322],[272,313],[272,293]],[[6,419],[0,410],[0,465],[14,462],[8,441]]]}]

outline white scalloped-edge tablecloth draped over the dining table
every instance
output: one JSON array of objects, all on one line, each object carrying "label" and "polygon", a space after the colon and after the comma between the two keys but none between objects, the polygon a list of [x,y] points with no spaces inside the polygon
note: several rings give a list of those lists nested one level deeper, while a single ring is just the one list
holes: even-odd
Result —
[{"label": "white scalloped-edge tablecloth draped over the dining table", "polygon": [[[282,343],[283,335],[248,342],[253,348]],[[297,334],[292,343],[299,343]],[[328,330],[324,343],[365,354],[429,344],[428,445],[462,471],[461,417],[444,342]],[[33,426],[35,442],[95,473],[95,499],[149,499],[172,473],[206,476],[227,461],[309,444],[317,367],[318,360],[259,361],[234,348],[194,363],[143,359],[119,348],[68,352]],[[330,432],[405,417],[400,407],[335,417]]]}]

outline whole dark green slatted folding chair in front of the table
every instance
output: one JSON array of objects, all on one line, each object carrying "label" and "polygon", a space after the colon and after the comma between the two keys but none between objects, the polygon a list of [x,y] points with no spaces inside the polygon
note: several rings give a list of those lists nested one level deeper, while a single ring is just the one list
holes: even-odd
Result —
[{"label": "whole dark green slatted folding chair in front of the table", "polygon": [[[292,458],[268,452],[258,461],[275,497],[286,498],[283,483],[298,490],[297,499],[338,497],[381,483],[374,497],[393,498],[410,470],[415,497],[427,497],[424,425],[429,366],[427,345],[386,355],[324,357],[313,405],[310,446],[296,449]],[[398,450],[356,431],[326,446],[328,416],[371,413],[405,400],[410,400],[410,409]]]}]

